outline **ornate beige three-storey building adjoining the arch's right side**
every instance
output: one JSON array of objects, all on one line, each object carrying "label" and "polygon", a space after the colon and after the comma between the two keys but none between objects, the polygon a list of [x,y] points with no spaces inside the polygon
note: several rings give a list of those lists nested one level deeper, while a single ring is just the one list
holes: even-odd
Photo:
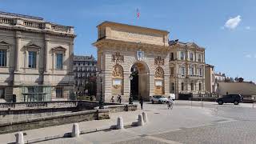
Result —
[{"label": "ornate beige three-storey building adjoining the arch's right side", "polygon": [[205,94],[205,49],[170,41],[170,93]]}]

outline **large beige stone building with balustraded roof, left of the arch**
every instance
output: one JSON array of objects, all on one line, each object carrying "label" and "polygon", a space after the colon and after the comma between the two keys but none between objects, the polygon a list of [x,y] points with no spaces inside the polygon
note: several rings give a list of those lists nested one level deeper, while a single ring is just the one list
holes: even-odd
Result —
[{"label": "large beige stone building with balustraded roof, left of the arch", "polygon": [[1,98],[6,102],[70,98],[74,38],[72,26],[0,12]]}]

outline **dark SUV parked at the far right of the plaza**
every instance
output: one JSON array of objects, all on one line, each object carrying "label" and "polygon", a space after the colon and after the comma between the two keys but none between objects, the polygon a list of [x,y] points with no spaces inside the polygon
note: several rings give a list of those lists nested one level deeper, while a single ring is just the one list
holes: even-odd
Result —
[{"label": "dark SUV parked at the far right of the plaza", "polygon": [[216,102],[218,102],[219,105],[222,105],[223,103],[234,103],[234,105],[238,105],[242,100],[243,98],[240,94],[227,94],[223,95],[222,98],[217,98]]}]

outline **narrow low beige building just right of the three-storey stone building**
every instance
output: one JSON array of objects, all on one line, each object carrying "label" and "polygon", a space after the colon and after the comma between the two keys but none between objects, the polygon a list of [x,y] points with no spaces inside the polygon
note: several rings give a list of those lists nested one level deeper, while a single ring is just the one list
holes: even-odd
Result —
[{"label": "narrow low beige building just right of the three-storey stone building", "polygon": [[206,92],[215,93],[214,66],[206,64]]}]

